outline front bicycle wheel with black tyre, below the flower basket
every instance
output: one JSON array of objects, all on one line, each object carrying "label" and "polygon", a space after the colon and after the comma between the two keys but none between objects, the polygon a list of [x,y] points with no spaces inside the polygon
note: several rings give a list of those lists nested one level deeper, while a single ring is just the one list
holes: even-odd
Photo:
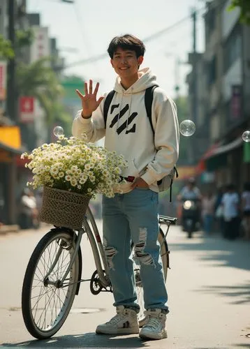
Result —
[{"label": "front bicycle wheel with black tyre, below the flower basket", "polygon": [[73,232],[60,229],[47,232],[31,255],[22,285],[22,316],[37,339],[57,333],[71,310],[78,286],[78,254],[63,285],[60,280],[74,251]]}]

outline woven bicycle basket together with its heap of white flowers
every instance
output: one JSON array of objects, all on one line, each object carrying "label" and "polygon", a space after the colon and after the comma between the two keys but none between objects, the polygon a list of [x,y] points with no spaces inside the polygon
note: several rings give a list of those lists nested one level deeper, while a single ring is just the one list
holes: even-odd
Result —
[{"label": "woven bicycle basket together with its heap of white flowers", "polygon": [[43,187],[40,220],[74,229],[81,227],[89,200],[97,193],[112,198],[119,192],[120,174],[127,166],[122,155],[87,143],[84,135],[59,135],[57,142],[21,157],[34,174],[27,185]]}]

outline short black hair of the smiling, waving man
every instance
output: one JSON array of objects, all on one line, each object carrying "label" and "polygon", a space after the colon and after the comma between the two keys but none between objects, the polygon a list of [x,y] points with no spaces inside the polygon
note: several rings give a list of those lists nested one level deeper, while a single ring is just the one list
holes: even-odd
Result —
[{"label": "short black hair of the smiling, waving man", "polygon": [[142,43],[142,40],[136,38],[131,34],[125,34],[123,36],[115,36],[110,41],[110,45],[108,46],[108,54],[112,59],[117,48],[120,47],[122,50],[131,50],[135,51],[136,57],[144,56],[145,54],[145,45]]}]

